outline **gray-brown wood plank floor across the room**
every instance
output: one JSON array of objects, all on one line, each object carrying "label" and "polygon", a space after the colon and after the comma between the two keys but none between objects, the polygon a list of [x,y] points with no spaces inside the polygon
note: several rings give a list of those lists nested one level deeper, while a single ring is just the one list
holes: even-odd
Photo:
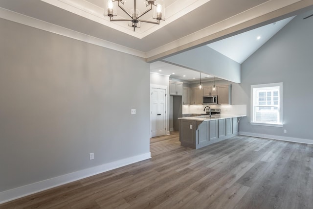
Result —
[{"label": "gray-brown wood plank floor across the room", "polygon": [[313,145],[238,136],[194,150],[150,139],[152,159],[0,209],[312,209]]}]

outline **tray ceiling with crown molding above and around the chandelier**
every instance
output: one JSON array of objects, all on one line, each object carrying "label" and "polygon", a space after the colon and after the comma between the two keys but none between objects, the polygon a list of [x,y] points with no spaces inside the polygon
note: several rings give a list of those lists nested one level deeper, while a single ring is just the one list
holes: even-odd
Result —
[{"label": "tray ceiling with crown molding above and around the chandelier", "polygon": [[[137,5],[144,3],[137,0]],[[141,23],[135,31],[127,22],[104,17],[104,0],[0,0],[0,18],[73,38],[84,36],[84,41],[92,39],[153,62],[294,16],[312,5],[313,0],[165,0],[166,20]],[[119,18],[124,15],[118,11]]]}]

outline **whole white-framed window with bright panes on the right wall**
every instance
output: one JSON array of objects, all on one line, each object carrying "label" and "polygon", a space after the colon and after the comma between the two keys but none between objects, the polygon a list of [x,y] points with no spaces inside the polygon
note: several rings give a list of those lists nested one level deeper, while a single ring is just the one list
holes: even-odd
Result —
[{"label": "whole white-framed window with bright panes on the right wall", "polygon": [[283,83],[251,85],[252,125],[283,124]]}]

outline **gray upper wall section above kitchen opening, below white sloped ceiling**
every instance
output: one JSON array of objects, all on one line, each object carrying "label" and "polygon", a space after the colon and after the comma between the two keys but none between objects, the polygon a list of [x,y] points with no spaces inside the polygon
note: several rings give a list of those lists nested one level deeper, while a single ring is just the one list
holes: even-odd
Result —
[{"label": "gray upper wall section above kitchen opening, below white sloped ceiling", "polygon": [[240,83],[240,64],[208,46],[201,46],[164,59],[172,64]]}]

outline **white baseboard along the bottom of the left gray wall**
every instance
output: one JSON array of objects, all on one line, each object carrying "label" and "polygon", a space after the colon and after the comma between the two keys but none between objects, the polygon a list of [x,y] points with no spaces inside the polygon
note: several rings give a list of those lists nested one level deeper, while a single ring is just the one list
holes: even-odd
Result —
[{"label": "white baseboard along the bottom of the left gray wall", "polygon": [[151,158],[151,152],[0,192],[0,204]]}]

